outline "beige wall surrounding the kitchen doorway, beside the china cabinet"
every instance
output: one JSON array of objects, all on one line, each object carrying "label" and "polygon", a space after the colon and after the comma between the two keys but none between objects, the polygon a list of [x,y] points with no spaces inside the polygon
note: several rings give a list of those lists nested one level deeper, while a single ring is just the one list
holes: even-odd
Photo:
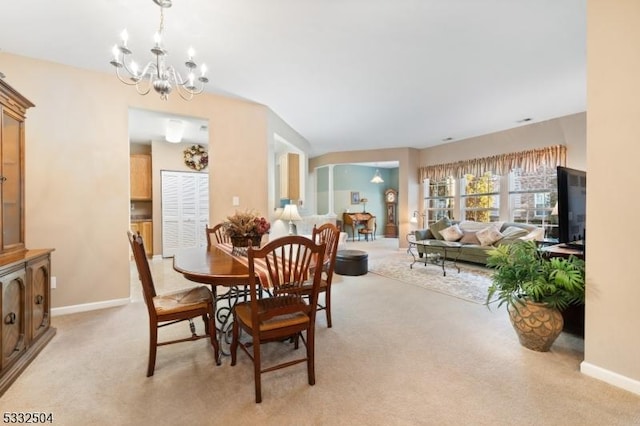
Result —
[{"label": "beige wall surrounding the kitchen doorway, beside the china cabinet", "polygon": [[[35,103],[26,126],[26,243],[52,247],[54,308],[129,298],[128,109],[209,121],[210,215],[267,210],[268,108],[215,95],[140,96],[115,76],[0,53],[6,82]],[[95,304],[95,305],[91,305]]]}]

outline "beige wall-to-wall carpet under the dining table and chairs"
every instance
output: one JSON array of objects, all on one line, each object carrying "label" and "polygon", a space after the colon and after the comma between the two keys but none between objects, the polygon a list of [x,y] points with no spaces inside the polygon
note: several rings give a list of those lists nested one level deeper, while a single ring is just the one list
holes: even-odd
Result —
[{"label": "beige wall-to-wall carpet under the dining table and chairs", "polygon": [[[348,245],[372,262],[397,251],[393,239]],[[170,261],[153,262],[153,274],[162,291],[192,285]],[[216,366],[205,340],[161,347],[147,378],[134,272],[132,289],[126,306],[54,317],[58,333],[0,397],[0,412],[51,412],[56,425],[82,426],[640,424],[640,396],[580,373],[582,339],[562,333],[550,352],[534,352],[504,310],[376,274],[335,277],[333,328],[318,316],[315,386],[302,364],[267,373],[255,404],[248,358]],[[269,362],[291,346],[265,349]]]}]

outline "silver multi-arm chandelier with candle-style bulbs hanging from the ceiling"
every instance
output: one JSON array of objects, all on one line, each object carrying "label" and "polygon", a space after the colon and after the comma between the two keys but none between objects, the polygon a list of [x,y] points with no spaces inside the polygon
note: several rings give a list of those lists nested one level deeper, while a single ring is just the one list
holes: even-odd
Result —
[{"label": "silver multi-arm chandelier with candle-style bulbs hanging from the ceiling", "polygon": [[160,27],[154,37],[155,45],[151,48],[153,59],[140,71],[138,64],[130,57],[133,52],[127,47],[129,35],[127,30],[124,30],[120,35],[122,43],[113,46],[113,59],[110,64],[116,68],[118,79],[129,86],[136,86],[136,90],[141,95],[146,95],[153,87],[160,94],[160,99],[167,100],[169,93],[175,87],[182,99],[191,100],[193,95],[202,93],[204,85],[209,82],[209,79],[204,76],[207,67],[202,64],[200,76],[195,76],[198,66],[193,61],[195,53],[192,48],[189,49],[188,59],[184,63],[187,68],[186,78],[183,78],[173,66],[166,64],[168,52],[162,45],[164,9],[171,7],[171,0],[153,0],[153,2],[160,6]]}]

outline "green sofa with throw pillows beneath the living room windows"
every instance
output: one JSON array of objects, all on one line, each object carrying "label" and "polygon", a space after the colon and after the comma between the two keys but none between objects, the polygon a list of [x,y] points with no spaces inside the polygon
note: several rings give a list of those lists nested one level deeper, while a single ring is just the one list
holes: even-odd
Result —
[{"label": "green sofa with throw pillows beneath the living room windows", "polygon": [[[448,217],[432,223],[427,229],[414,231],[414,239],[437,239],[457,241],[462,244],[458,260],[486,264],[489,250],[500,244],[511,244],[521,240],[541,240],[544,229],[526,223],[512,222],[474,222],[456,221]],[[420,257],[424,255],[424,246],[417,246]],[[429,253],[437,253],[438,249],[429,248]],[[442,252],[440,254],[443,254]],[[447,251],[448,257],[455,256],[453,250]]]}]

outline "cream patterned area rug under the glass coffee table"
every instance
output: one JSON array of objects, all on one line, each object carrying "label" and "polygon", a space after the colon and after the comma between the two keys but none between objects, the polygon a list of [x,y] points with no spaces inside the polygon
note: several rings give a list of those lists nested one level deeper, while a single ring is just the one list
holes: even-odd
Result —
[{"label": "cream patterned area rug under the glass coffee table", "polygon": [[369,272],[403,283],[417,285],[432,291],[447,294],[469,302],[484,304],[487,289],[491,285],[491,271],[482,266],[458,263],[460,273],[447,261],[447,276],[442,275],[442,266],[416,263],[413,268],[411,255],[394,254],[379,260],[369,260]]}]

